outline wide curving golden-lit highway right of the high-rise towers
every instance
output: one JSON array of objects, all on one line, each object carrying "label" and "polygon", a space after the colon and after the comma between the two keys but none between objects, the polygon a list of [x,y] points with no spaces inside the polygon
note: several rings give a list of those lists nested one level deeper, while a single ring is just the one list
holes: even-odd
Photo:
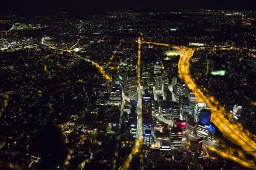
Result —
[{"label": "wide curving golden-lit highway right of the high-rise towers", "polygon": [[[236,143],[237,145],[240,145],[246,152],[255,152],[255,142],[254,140],[247,137],[241,124],[234,124],[233,122],[230,122],[228,118],[225,117],[229,114],[225,111],[225,108],[221,107],[213,96],[204,95],[203,92],[197,88],[196,83],[193,82],[189,70],[189,59],[193,56],[194,50],[189,48],[178,49],[180,53],[180,60],[178,63],[179,77],[184,80],[190,90],[195,92],[195,96],[197,98],[203,100],[208,105],[212,111],[211,122],[213,122],[213,124],[216,125],[218,129],[220,129],[225,138],[229,139],[233,143]],[[249,135],[253,136],[252,134]]]}]

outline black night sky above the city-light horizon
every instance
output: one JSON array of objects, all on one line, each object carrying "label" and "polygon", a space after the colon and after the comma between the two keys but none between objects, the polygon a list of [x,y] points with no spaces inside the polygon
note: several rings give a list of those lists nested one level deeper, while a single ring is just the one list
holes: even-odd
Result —
[{"label": "black night sky above the city-light horizon", "polygon": [[105,9],[230,9],[253,10],[256,8],[255,0],[3,0],[0,4],[2,14],[8,13],[47,13],[57,11],[86,12],[102,11]]}]

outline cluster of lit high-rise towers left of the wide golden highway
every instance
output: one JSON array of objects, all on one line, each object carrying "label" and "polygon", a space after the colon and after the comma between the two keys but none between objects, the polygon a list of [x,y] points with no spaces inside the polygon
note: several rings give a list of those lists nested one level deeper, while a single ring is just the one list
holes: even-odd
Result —
[{"label": "cluster of lit high-rise towers left of the wide golden highway", "polygon": [[[211,112],[204,102],[197,102],[193,92],[189,91],[180,79],[167,78],[162,73],[160,62],[154,63],[154,70],[142,69],[141,84],[144,89],[142,95],[142,135],[143,146],[154,145],[154,121],[155,117],[162,117],[172,122],[168,125],[169,139],[160,141],[161,150],[181,148],[187,116],[192,116],[196,122],[194,133],[200,138],[191,141],[189,149],[192,152],[201,152],[203,139],[214,140],[214,127],[210,123]],[[131,107],[123,108],[123,123],[129,126],[129,133],[135,138],[137,135],[137,102],[138,78],[124,72],[122,78],[115,76],[115,84],[110,88],[107,104],[120,105],[122,91],[129,96]],[[169,81],[171,80],[171,82]],[[171,84],[170,84],[171,83]],[[104,84],[105,85],[105,84]],[[171,85],[171,89],[170,89]],[[171,91],[172,90],[172,91]],[[134,103],[135,104],[132,104]],[[239,116],[241,108],[235,106],[233,114]],[[166,123],[166,122],[164,122]]]}]

